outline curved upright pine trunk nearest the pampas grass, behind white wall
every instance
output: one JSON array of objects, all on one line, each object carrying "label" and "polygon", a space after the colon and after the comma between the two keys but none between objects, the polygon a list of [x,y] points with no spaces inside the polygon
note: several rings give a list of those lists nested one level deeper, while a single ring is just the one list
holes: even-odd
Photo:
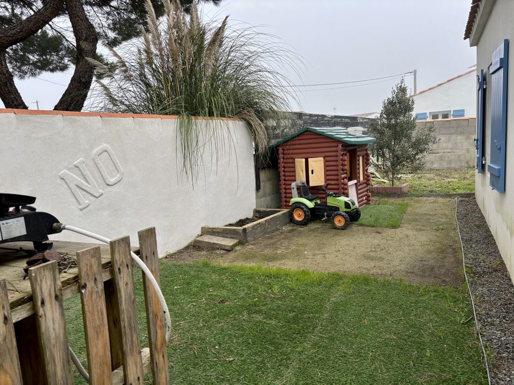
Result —
[{"label": "curved upright pine trunk nearest the pampas grass, behind white wall", "polygon": [[77,46],[75,71],[54,110],[80,111],[93,82],[94,68],[86,57],[95,57],[98,35],[88,20],[80,0],[66,0],[69,20],[73,27]]}]

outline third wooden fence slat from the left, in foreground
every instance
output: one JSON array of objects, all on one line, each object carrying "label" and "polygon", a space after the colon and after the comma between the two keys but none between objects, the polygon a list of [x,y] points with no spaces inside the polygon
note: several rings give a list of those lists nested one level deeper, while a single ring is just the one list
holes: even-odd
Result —
[{"label": "third wooden fence slat from the left, in foreground", "polygon": [[89,383],[111,383],[111,349],[103,291],[100,247],[77,252]]}]

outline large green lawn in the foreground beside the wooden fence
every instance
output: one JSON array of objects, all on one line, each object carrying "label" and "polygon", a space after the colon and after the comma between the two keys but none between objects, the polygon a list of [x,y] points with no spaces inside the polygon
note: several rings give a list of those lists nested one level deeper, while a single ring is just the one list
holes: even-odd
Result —
[{"label": "large green lawn in the foreground beside the wooden fence", "polygon": [[[487,382],[464,288],[207,262],[161,263],[161,277],[171,383]],[[84,359],[79,297],[65,306]]]}]

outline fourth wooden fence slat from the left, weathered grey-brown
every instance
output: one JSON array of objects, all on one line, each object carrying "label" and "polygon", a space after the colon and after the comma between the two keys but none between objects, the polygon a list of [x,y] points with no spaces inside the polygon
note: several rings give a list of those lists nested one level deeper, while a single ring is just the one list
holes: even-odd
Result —
[{"label": "fourth wooden fence slat from the left, weathered grey-brown", "polygon": [[127,385],[142,384],[144,381],[143,363],[128,237],[111,241],[111,259],[115,293],[118,296],[125,383]]}]

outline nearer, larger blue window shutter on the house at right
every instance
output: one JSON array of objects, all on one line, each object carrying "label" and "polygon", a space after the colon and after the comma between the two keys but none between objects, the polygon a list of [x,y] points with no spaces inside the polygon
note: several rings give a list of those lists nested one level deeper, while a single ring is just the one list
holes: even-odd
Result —
[{"label": "nearer, larger blue window shutter on the house at right", "polygon": [[505,139],[507,133],[507,74],[509,41],[492,52],[491,74],[491,156],[487,171],[489,185],[505,192]]}]

